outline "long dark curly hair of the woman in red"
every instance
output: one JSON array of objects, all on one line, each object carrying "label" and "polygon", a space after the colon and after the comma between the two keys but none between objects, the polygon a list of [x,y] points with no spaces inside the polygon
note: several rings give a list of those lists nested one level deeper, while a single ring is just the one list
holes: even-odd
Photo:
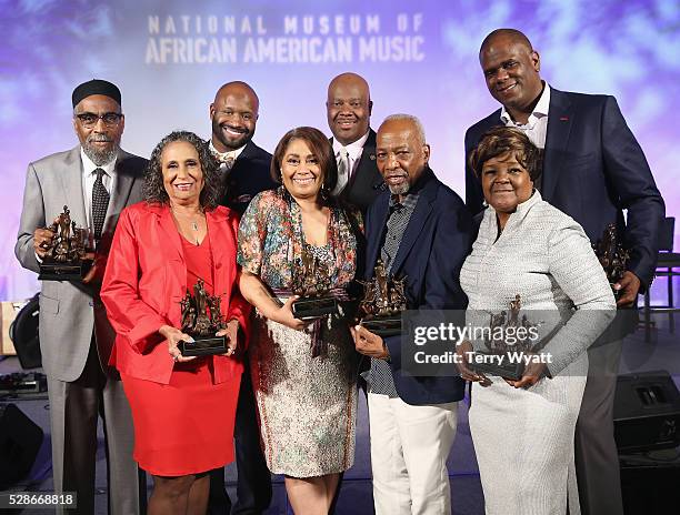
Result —
[{"label": "long dark curly hair of the woman in red", "polygon": [[149,203],[169,203],[168,192],[163,185],[163,172],[161,158],[168,144],[176,141],[186,141],[191,144],[199,155],[201,170],[203,172],[203,189],[199,196],[201,208],[206,211],[217,208],[223,192],[222,180],[219,172],[219,163],[210,152],[208,142],[189,131],[173,131],[163,138],[151,152],[151,159],[144,171],[144,200]]}]

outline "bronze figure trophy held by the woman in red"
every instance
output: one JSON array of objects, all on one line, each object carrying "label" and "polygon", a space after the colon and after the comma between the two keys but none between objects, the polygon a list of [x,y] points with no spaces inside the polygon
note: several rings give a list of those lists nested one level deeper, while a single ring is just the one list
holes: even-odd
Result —
[{"label": "bronze figure trophy held by the woman in red", "polygon": [[200,279],[193,285],[193,295],[187,290],[187,294],[180,301],[182,332],[189,334],[193,342],[179,343],[182,356],[204,356],[227,352],[227,339],[216,336],[218,331],[227,327],[220,304],[221,299],[208,294]]}]

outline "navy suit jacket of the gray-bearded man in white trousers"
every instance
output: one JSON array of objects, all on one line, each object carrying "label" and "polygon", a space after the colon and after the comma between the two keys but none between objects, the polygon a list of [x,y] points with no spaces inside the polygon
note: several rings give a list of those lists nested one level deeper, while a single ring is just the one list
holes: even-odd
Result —
[{"label": "navy suit jacket of the gray-bearded man in white trousers", "polygon": [[[464,310],[468,297],[460,287],[460,269],[472,245],[472,219],[462,200],[426,169],[414,190],[420,191],[391,273],[407,276],[410,310]],[[383,191],[366,218],[367,272],[373,275],[387,231],[390,192]],[[460,401],[460,377],[416,377],[402,374],[401,336],[386,339],[390,367],[401,400],[408,404],[441,404]]]}]

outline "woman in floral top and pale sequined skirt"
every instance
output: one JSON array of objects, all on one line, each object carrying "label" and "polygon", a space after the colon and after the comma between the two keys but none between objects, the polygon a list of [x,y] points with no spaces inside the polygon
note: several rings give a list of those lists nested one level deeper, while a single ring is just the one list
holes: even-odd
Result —
[{"label": "woman in floral top and pale sequined skirt", "polygon": [[327,513],[354,460],[357,354],[346,320],[296,319],[291,290],[311,255],[342,297],[356,274],[360,221],[328,194],[338,171],[319,130],[289,131],[272,176],[282,185],[257,195],[239,226],[241,292],[258,312],[252,382],[269,469],[286,475],[296,514]]}]

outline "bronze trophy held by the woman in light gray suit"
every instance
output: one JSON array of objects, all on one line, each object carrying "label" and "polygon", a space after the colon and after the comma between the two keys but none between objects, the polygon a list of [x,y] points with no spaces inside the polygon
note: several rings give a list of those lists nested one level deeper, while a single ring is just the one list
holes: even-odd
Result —
[{"label": "bronze trophy held by the woman in light gray suit", "polygon": [[[522,302],[519,293],[510,301],[510,310],[491,313],[488,333],[484,333],[484,346],[488,352],[476,352],[477,359],[470,360],[469,366],[476,372],[519,381],[524,372],[524,362],[519,354],[534,352],[540,345],[530,337],[531,329],[540,323],[529,322],[527,315],[519,317]],[[518,329],[523,327],[522,331]],[[507,335],[512,334],[514,342],[507,342]],[[538,334],[538,333],[536,333]],[[517,353],[512,359],[511,353]],[[500,359],[491,359],[500,357]]]}]

